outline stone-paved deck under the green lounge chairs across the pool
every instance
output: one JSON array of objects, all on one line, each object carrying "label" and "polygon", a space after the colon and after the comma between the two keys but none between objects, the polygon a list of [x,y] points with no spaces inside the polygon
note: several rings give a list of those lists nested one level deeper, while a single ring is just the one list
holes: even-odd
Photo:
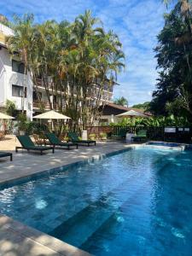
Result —
[{"label": "stone-paved deck under the green lounge chairs across the pool", "polygon": [[9,150],[7,145],[9,140],[0,142],[0,150],[13,153],[13,162],[10,162],[9,158],[0,159],[0,183],[129,147],[125,143],[97,143],[96,147],[79,146],[79,149],[70,150],[55,148],[55,154],[47,151],[49,153],[46,152],[40,155],[38,152],[27,153],[26,150],[20,150],[18,153],[15,153],[15,145],[19,144],[15,142],[15,138],[13,137],[11,141],[12,143],[9,143],[9,145],[12,150]]}]

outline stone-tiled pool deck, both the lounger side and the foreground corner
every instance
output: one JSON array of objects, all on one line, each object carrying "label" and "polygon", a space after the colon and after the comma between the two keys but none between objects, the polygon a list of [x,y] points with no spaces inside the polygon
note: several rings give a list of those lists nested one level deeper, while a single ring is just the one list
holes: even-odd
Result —
[{"label": "stone-tiled pool deck, both the lounger side and the foreground corner", "polygon": [[[13,147],[12,149],[15,147]],[[10,146],[10,145],[9,145]],[[27,154],[20,151],[15,154],[14,160],[0,160],[0,184],[12,182],[15,179],[38,175],[45,170],[59,166],[67,166],[75,162],[98,158],[105,154],[130,148],[125,143],[110,142],[97,143],[95,146],[79,149],[65,150],[55,149],[55,154]],[[8,149],[0,144],[0,150]],[[11,152],[11,150],[9,150]],[[38,230],[27,227],[16,222],[14,219],[0,215],[0,256],[44,256],[44,255],[66,255],[85,256],[90,255],[77,247],[48,236]]]}]

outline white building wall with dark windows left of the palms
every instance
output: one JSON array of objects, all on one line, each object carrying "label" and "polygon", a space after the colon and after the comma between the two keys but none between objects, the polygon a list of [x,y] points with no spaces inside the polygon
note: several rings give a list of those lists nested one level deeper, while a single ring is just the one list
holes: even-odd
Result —
[{"label": "white building wall with dark windows left of the palms", "polygon": [[0,24],[0,108],[5,108],[7,100],[15,102],[16,109],[24,109],[32,119],[32,79],[25,74],[23,63],[13,59],[5,47],[5,37],[11,34],[9,27]]}]

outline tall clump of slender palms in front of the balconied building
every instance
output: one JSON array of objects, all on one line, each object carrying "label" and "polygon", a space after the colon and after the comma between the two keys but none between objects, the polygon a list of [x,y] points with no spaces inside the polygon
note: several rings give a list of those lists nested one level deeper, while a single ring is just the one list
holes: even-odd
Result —
[{"label": "tall clump of slender palms in front of the balconied building", "polygon": [[[20,55],[30,71],[38,102],[40,83],[49,108],[69,115],[71,128],[91,124],[98,115],[104,86],[108,83],[110,90],[124,67],[118,36],[105,32],[90,11],[73,23],[47,20],[34,24],[32,15],[24,15],[23,19],[15,18],[12,27],[15,34],[8,38],[9,49]],[[44,111],[42,102],[40,106]]]}]

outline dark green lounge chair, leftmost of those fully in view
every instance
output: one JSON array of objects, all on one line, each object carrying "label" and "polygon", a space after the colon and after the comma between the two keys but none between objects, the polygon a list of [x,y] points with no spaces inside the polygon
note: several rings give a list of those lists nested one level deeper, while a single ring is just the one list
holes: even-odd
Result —
[{"label": "dark green lounge chair, leftmost of those fully in view", "polygon": [[26,149],[27,151],[34,150],[39,151],[41,154],[43,154],[43,151],[45,150],[52,150],[52,153],[54,153],[54,147],[46,147],[46,146],[36,146],[33,142],[31,137],[22,135],[17,136],[18,140],[20,141],[20,144],[22,147],[16,147],[15,152],[18,152],[19,148]]}]

